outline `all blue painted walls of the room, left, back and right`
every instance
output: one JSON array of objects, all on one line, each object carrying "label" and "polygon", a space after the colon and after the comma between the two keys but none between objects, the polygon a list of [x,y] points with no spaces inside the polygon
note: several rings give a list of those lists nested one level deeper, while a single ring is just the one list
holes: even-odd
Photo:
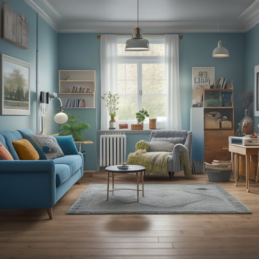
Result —
[{"label": "all blue painted walls of the room, left, back and right", "polygon": [[[0,0],[0,5],[2,5]],[[59,69],[96,70],[96,109],[66,110],[79,116],[79,121],[91,125],[84,132],[85,139],[94,144],[83,146],[86,151],[85,170],[97,169],[100,129],[100,40],[97,34],[57,34],[41,17],[37,17],[25,2],[8,0],[12,11],[28,18],[29,50],[22,50],[0,39],[0,53],[4,53],[31,64],[31,115],[0,115],[0,130],[31,128],[36,132],[37,104],[39,91],[58,91]],[[190,130],[190,106],[192,99],[191,67],[215,67],[216,80],[226,77],[234,81],[235,122],[243,117],[243,108],[237,102],[237,96],[245,89],[254,91],[254,66],[259,64],[259,25],[247,33],[185,33],[179,40],[180,96],[182,110],[182,128]],[[229,58],[213,58],[212,52],[219,40],[229,51]],[[36,51],[39,52],[39,89],[36,88]],[[47,134],[58,132],[53,121],[57,112],[57,103],[52,100],[47,110]],[[250,116],[253,116],[250,107]],[[256,125],[259,118],[255,118]],[[133,152],[139,139],[148,140],[149,134],[128,134],[127,153]]]}]

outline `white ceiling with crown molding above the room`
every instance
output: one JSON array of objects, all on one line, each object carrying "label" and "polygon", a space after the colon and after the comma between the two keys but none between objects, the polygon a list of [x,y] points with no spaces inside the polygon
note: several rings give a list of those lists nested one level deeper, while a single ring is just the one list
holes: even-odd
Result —
[{"label": "white ceiling with crown molding above the room", "polygon": [[[55,31],[131,33],[137,0],[24,0]],[[259,23],[259,0],[139,0],[145,33],[246,32]]]}]

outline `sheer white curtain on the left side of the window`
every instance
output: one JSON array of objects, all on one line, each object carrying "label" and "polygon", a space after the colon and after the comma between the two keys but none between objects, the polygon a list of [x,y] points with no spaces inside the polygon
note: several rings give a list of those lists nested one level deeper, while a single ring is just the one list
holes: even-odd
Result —
[{"label": "sheer white curtain on the left side of the window", "polygon": [[[117,93],[117,35],[101,35],[101,96]],[[109,128],[109,115],[101,100],[101,130]]]}]

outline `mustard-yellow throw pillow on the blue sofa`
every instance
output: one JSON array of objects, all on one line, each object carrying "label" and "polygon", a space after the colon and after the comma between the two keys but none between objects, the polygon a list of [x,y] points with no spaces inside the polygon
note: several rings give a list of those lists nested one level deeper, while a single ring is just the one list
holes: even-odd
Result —
[{"label": "mustard-yellow throw pillow on the blue sofa", "polygon": [[38,160],[39,154],[27,139],[12,141],[15,151],[20,160]]}]

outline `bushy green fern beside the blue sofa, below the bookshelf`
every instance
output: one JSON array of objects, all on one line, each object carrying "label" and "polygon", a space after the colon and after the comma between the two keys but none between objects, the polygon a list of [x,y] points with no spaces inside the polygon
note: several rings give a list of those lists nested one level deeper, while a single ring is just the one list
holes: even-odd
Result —
[{"label": "bushy green fern beside the blue sofa, below the bookshelf", "polygon": [[78,122],[76,115],[68,115],[68,117],[67,123],[60,127],[59,136],[72,135],[74,141],[83,141],[84,135],[81,131],[88,129],[90,125],[86,122]]}]

